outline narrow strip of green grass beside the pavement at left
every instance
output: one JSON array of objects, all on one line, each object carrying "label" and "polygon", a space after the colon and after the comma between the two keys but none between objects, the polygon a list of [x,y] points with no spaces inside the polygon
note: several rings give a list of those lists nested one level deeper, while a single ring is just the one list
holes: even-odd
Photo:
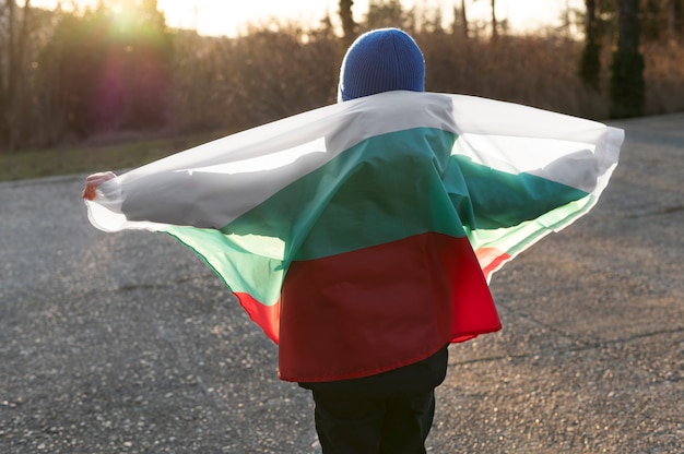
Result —
[{"label": "narrow strip of green grass beside the pavement at left", "polygon": [[0,181],[140,167],[222,135],[214,132],[110,145],[3,152],[0,153]]}]

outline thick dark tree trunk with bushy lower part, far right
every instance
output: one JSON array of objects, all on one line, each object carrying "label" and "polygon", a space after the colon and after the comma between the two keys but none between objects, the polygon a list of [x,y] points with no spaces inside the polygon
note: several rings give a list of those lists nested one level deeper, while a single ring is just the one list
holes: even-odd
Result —
[{"label": "thick dark tree trunk with bushy lower part, far right", "polygon": [[644,115],[646,83],[639,52],[639,0],[618,0],[617,48],[611,62],[611,117]]}]

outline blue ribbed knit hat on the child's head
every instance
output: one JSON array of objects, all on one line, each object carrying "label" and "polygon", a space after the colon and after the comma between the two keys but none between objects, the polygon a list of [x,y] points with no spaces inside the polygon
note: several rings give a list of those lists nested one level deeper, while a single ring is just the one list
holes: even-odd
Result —
[{"label": "blue ribbed knit hat on the child's head", "polygon": [[392,89],[425,91],[425,60],[417,44],[398,28],[359,36],[342,61],[338,100]]}]

